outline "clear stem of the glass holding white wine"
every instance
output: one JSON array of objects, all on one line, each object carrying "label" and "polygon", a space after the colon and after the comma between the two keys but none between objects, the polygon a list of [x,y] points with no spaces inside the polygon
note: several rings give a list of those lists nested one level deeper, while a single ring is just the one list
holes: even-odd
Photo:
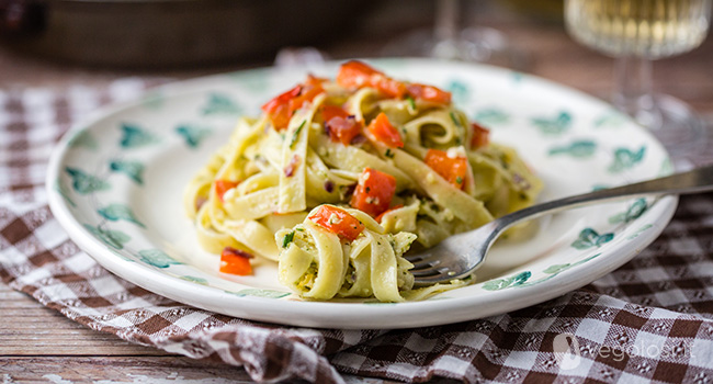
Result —
[{"label": "clear stem of the glass holding white wine", "polygon": [[643,126],[658,129],[661,115],[654,101],[652,61],[635,56],[618,58],[614,65],[614,106]]}]

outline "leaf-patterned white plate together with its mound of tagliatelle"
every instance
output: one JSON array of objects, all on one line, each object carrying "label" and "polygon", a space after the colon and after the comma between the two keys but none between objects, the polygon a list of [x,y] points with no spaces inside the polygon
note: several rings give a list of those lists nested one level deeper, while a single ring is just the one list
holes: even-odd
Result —
[{"label": "leaf-patterned white plate together with its mound of tagliatelle", "polygon": [[609,104],[507,69],[426,59],[263,68],[111,106],[50,159],[71,239],[149,291],[253,320],[406,328],[496,315],[612,271],[675,196],[511,228],[483,268],[415,287],[409,252],[540,201],[671,172]]}]

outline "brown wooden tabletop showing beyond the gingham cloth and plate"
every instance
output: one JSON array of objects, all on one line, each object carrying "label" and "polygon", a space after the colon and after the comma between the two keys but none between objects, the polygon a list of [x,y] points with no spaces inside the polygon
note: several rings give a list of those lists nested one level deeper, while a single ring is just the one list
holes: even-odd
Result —
[{"label": "brown wooden tabletop showing beyond the gingham cloth and plate", "polygon": [[[384,14],[387,14],[385,12]],[[505,14],[505,15],[502,15]],[[612,87],[612,59],[575,44],[562,24],[530,20],[507,12],[483,18],[480,24],[502,31],[529,55],[525,72],[585,92],[607,97]],[[388,18],[372,23],[386,24]],[[376,56],[374,29],[358,31],[341,42],[320,46],[333,58]],[[385,31],[385,30],[384,30]],[[388,32],[388,35],[392,35]],[[387,36],[376,34],[381,41]],[[188,78],[231,68],[210,68],[161,74]],[[35,60],[0,49],[0,89],[63,87],[72,82],[102,86],[126,71],[90,71]],[[657,61],[655,89],[690,103],[713,127],[713,38],[693,53]],[[349,376],[349,382],[380,382]],[[30,296],[0,283],[0,381],[2,383],[244,383],[244,370],[196,361],[139,347],[113,335],[100,334],[48,309]]]}]

